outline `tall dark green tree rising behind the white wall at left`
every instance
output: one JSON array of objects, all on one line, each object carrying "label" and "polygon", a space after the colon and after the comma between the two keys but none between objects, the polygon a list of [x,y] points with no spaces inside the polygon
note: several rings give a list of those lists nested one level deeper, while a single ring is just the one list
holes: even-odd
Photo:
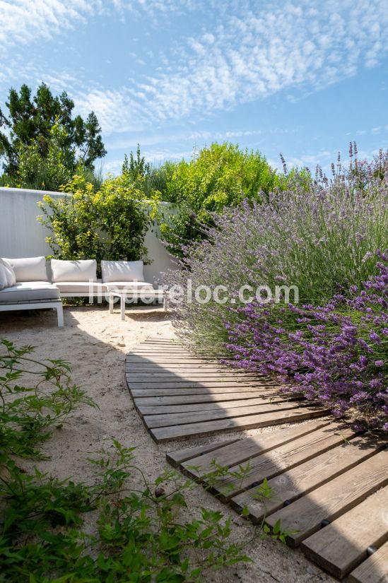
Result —
[{"label": "tall dark green tree rising behind the white wall at left", "polygon": [[[55,124],[63,129],[60,148],[64,156],[61,163],[70,174],[79,165],[94,170],[95,160],[106,154],[95,113],[90,112],[86,121],[80,115],[73,118],[74,102],[66,91],[54,97],[49,87],[42,83],[32,98],[31,90],[26,85],[21,86],[20,93],[11,88],[6,107],[8,117],[0,110],[0,129],[4,128],[0,131],[0,158],[4,159],[8,179],[17,179],[20,155],[32,145],[37,150],[35,163],[37,155],[41,160],[39,172],[42,172],[46,161],[52,165],[53,160],[48,158]],[[30,157],[32,155],[30,153]]]}]

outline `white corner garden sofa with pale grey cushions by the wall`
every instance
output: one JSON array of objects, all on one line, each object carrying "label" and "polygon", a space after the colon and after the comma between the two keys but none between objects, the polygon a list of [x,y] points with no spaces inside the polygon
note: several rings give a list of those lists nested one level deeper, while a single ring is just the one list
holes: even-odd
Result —
[{"label": "white corner garden sofa with pale grey cushions by the wall", "polygon": [[150,293],[144,281],[143,261],[102,261],[102,281],[97,281],[97,261],[52,259],[48,275],[45,257],[0,259],[0,312],[11,310],[57,310],[58,326],[64,326],[61,298],[102,297],[122,292]]}]

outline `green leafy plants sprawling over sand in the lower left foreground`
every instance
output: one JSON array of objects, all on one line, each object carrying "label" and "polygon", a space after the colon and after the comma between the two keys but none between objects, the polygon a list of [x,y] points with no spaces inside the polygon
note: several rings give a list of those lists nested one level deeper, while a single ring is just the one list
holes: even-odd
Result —
[{"label": "green leafy plants sprawling over sand in the lower left foreground", "polygon": [[[15,454],[42,457],[36,444],[47,430],[93,401],[71,386],[63,361],[39,363],[30,347],[1,346],[1,582],[194,583],[210,569],[249,560],[244,549],[251,541],[230,541],[231,520],[222,512],[201,507],[188,515],[184,493],[193,481],[176,471],[148,481],[134,448],[117,440],[88,459],[91,483],[20,469]],[[18,384],[25,374],[37,375],[33,387]],[[282,536],[277,528],[273,538]]]}]

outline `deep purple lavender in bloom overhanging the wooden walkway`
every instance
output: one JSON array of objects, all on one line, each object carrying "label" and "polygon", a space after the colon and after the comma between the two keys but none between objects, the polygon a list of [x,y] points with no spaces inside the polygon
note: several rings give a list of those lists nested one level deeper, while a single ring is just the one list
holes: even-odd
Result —
[{"label": "deep purple lavender in bloom overhanging the wooden walkway", "polygon": [[[388,431],[388,250],[377,252],[379,274],[350,298],[337,294],[324,307],[271,307],[252,303],[226,323],[238,367],[276,373],[293,391],[351,414],[358,428]],[[360,423],[361,422],[361,423]]]}]

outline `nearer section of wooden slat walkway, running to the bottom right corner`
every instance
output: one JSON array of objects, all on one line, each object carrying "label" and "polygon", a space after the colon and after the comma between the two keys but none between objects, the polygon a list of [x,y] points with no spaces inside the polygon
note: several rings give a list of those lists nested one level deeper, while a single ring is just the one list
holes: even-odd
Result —
[{"label": "nearer section of wooden slat walkway, running to the bottom right corner", "polygon": [[[208,449],[207,449],[208,448]],[[331,575],[353,583],[388,582],[388,449],[385,437],[357,435],[312,421],[235,442],[167,454],[252,522],[290,531],[287,542]],[[222,466],[230,473],[215,478]],[[272,490],[259,495],[264,478]],[[367,549],[377,552],[368,558]]]}]

